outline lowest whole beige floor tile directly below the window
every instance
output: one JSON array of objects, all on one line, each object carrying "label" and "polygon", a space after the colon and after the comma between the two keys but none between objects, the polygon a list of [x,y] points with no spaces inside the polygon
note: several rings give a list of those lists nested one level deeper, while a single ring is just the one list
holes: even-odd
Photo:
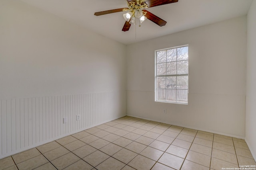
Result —
[{"label": "lowest whole beige floor tile directly below the window", "polygon": [[172,154],[164,153],[158,162],[170,166],[171,168],[179,170],[184,159]]}]

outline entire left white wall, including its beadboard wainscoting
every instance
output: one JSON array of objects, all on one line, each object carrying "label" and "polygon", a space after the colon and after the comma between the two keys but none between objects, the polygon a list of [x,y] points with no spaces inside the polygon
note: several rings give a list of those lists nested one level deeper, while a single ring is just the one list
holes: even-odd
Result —
[{"label": "entire left white wall, including its beadboard wainscoting", "polygon": [[0,158],[126,115],[125,58],[125,45],[1,0]]}]

